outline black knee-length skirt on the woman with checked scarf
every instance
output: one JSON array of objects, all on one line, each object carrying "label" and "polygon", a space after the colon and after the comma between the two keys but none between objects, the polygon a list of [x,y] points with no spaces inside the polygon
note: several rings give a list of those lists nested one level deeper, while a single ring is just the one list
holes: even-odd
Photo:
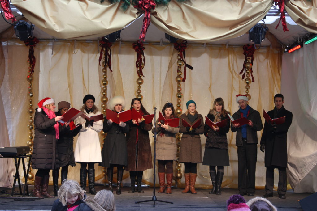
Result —
[{"label": "black knee-length skirt on the woman with checked scarf", "polygon": [[229,166],[228,150],[218,148],[205,148],[203,165]]}]

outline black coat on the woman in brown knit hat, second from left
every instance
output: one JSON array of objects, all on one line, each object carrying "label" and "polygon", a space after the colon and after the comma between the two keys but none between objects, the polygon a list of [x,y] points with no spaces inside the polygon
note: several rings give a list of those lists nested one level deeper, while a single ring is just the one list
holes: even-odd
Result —
[{"label": "black coat on the woman in brown knit hat, second from left", "polygon": [[[60,116],[59,112],[55,112],[56,116]],[[58,153],[58,163],[59,167],[66,165],[75,166],[74,158],[74,137],[79,133],[82,125],[78,126],[74,130],[70,130],[69,127],[59,125],[59,139],[57,142],[57,153]]]}]

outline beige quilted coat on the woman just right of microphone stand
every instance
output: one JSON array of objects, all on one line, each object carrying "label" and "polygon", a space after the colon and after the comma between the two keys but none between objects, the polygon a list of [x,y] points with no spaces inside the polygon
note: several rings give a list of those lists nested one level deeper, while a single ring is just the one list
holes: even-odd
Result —
[{"label": "beige quilted coat on the woman just right of microphone stand", "polygon": [[[176,160],[176,136],[179,127],[170,127],[165,130],[158,127],[159,120],[156,121],[156,159],[158,160]],[[164,133],[162,134],[162,132]],[[154,127],[152,128],[152,133],[154,134]],[[162,134],[162,136],[161,136]]]}]

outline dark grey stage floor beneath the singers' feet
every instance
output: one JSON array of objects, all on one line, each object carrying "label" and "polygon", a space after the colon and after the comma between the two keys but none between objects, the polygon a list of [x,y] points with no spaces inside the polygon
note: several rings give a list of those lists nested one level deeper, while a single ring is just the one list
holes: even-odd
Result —
[{"label": "dark grey stage floor beneath the singers' feet", "polygon": [[[107,188],[107,186],[95,186],[96,190],[101,190]],[[33,186],[29,186],[30,190],[33,190]],[[129,187],[122,188],[122,194],[116,195],[114,192],[114,198],[117,206],[117,210],[227,210],[226,201],[231,195],[238,193],[237,189],[224,188],[222,195],[211,195],[208,194],[210,190],[207,189],[197,189],[197,194],[182,194],[183,189],[173,188],[172,194],[167,195],[165,193],[158,194],[158,188],[156,188],[156,198],[157,200],[170,201],[173,204],[155,202],[155,207],[153,207],[153,202],[144,202],[136,204],[136,201],[151,200],[153,194],[153,188],[143,187],[143,194],[139,193],[128,193]],[[4,190],[4,189],[1,189]],[[10,191],[10,189],[6,189]],[[16,191],[18,188],[16,188]],[[88,187],[86,188],[88,190]],[[2,191],[1,191],[2,192]],[[53,186],[49,186],[49,192],[53,193]],[[256,196],[261,196],[264,194],[264,190],[256,190]],[[90,197],[94,195],[87,194]],[[268,198],[272,204],[278,208],[278,210],[302,210],[298,200],[311,195],[311,193],[294,193],[293,190],[288,190],[286,194],[286,199],[278,198],[277,192],[274,192],[273,198]],[[0,196],[6,196],[1,193]],[[19,196],[19,195],[15,195]],[[253,197],[244,196],[245,200],[248,201]],[[37,199],[35,201],[14,201],[14,199],[0,198],[0,210],[51,210],[53,202],[55,199]]]}]

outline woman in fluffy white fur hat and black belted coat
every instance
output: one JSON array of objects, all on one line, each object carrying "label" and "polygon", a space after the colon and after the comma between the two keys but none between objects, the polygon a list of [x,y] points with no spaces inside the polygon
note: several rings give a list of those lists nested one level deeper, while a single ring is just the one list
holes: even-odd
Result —
[{"label": "woman in fluffy white fur hat and black belted coat", "polygon": [[[115,96],[110,99],[108,108],[114,112],[119,113],[123,111],[126,102],[122,96]],[[126,122],[113,122],[111,119],[103,122],[103,132],[107,133],[106,140],[103,144],[101,156],[102,162],[99,164],[107,168],[107,176],[109,183],[109,190],[112,189],[113,167],[117,167],[117,191],[121,194],[121,181],[123,176],[123,167],[128,164],[128,151],[126,146],[125,134],[129,132],[129,124]]]}]

